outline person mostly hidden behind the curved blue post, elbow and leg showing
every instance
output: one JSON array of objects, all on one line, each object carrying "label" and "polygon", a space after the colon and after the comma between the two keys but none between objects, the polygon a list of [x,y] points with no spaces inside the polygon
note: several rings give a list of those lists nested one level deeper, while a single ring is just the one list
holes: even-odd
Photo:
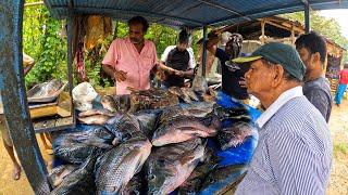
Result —
[{"label": "person mostly hidden behind the curved blue post, elbow and leg showing", "polygon": [[[29,73],[29,70],[33,68],[34,64],[35,64],[34,58],[32,58],[29,55],[27,55],[23,52],[24,76],[27,73]],[[14,170],[13,170],[12,177],[14,180],[18,180],[21,178],[21,166],[14,156],[14,147],[13,147],[12,139],[9,133],[7,119],[3,115],[1,94],[0,94],[0,131],[1,131],[1,135],[2,135],[3,146],[7,150],[9,156],[12,160],[12,164],[13,164]]]}]

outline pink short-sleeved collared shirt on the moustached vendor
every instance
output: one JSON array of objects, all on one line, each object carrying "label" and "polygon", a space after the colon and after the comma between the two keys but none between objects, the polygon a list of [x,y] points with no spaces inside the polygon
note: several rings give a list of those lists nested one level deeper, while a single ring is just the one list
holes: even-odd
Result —
[{"label": "pink short-sleeved collared shirt on the moustached vendor", "polygon": [[150,88],[150,70],[157,62],[157,52],[153,42],[145,40],[144,48],[139,53],[129,38],[115,39],[102,64],[110,65],[117,70],[127,73],[125,81],[116,83],[117,94],[129,94],[127,87],[137,90],[147,90]]}]

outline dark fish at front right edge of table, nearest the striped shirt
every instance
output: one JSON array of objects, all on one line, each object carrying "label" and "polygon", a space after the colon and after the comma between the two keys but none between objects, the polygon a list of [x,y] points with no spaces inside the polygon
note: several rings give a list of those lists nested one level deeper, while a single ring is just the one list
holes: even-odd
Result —
[{"label": "dark fish at front right edge of table, nearest the striped shirt", "polygon": [[199,194],[211,195],[224,193],[227,187],[237,185],[246,171],[246,166],[216,167],[209,172]]}]

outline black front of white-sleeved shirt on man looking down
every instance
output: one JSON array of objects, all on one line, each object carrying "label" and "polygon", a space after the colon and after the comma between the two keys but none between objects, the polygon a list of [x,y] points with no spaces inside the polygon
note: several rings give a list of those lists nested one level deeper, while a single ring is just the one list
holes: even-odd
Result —
[{"label": "black front of white-sleeved shirt on man looking down", "polygon": [[[188,62],[189,62],[188,51],[187,50],[179,51],[175,47],[173,50],[169,52],[165,65],[177,70],[186,72],[188,69]],[[172,86],[183,87],[184,77],[166,74],[164,86],[165,87],[172,87]]]}]

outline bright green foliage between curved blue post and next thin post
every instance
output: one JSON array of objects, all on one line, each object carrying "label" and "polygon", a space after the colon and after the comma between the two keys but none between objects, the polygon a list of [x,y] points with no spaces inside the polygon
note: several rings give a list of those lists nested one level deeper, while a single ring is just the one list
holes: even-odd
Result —
[{"label": "bright green foliage between curved blue post and next thin post", "polygon": [[52,78],[66,79],[66,40],[60,37],[61,26],[46,6],[25,9],[23,48],[36,62],[25,78],[27,87]]}]

